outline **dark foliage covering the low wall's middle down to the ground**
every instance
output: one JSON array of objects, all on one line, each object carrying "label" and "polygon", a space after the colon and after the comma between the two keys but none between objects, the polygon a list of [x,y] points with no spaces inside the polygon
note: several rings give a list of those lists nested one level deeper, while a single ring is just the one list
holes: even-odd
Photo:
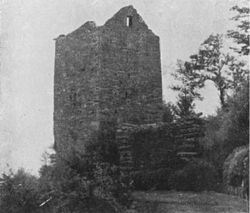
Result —
[{"label": "dark foliage covering the low wall's middle down to the ground", "polygon": [[169,189],[170,174],[183,167],[183,160],[177,157],[173,126],[142,128],[132,134],[134,172],[131,179],[134,189]]}]

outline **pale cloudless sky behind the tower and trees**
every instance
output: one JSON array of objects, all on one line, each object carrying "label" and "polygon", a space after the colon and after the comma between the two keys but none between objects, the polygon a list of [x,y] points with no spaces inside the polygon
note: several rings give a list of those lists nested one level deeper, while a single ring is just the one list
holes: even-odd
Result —
[{"label": "pale cloudless sky behind the tower and trees", "polygon": [[[37,174],[42,153],[53,145],[55,41],[86,21],[103,25],[133,5],[160,36],[163,95],[177,59],[187,60],[212,33],[230,28],[233,0],[0,0],[0,171],[24,167]],[[218,94],[209,83],[197,110],[213,114]]]}]

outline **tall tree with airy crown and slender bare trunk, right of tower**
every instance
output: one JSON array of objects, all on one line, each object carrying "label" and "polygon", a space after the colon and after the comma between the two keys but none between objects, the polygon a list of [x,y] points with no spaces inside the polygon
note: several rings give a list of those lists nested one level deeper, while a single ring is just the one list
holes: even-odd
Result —
[{"label": "tall tree with airy crown and slender bare trunk, right of tower", "polygon": [[192,55],[188,62],[191,69],[196,70],[197,78],[202,82],[210,80],[219,91],[220,103],[226,106],[227,91],[233,87],[232,70],[229,65],[234,62],[234,57],[223,52],[223,36],[210,35],[200,46],[198,54]]}]

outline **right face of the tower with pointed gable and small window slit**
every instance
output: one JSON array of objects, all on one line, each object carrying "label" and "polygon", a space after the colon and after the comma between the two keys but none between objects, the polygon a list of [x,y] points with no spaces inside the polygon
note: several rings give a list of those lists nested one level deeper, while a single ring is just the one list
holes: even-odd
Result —
[{"label": "right face of the tower with pointed gable and small window slit", "polygon": [[100,35],[100,112],[109,111],[119,123],[161,120],[159,37],[132,7],[121,9],[108,20]]}]

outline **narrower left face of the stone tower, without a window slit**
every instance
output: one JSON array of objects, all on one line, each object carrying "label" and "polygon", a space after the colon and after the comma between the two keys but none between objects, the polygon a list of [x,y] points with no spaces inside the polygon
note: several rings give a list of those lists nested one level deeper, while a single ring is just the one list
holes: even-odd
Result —
[{"label": "narrower left face of the stone tower, without a window slit", "polygon": [[81,146],[98,111],[98,32],[93,22],[56,39],[54,136],[57,150]]}]

